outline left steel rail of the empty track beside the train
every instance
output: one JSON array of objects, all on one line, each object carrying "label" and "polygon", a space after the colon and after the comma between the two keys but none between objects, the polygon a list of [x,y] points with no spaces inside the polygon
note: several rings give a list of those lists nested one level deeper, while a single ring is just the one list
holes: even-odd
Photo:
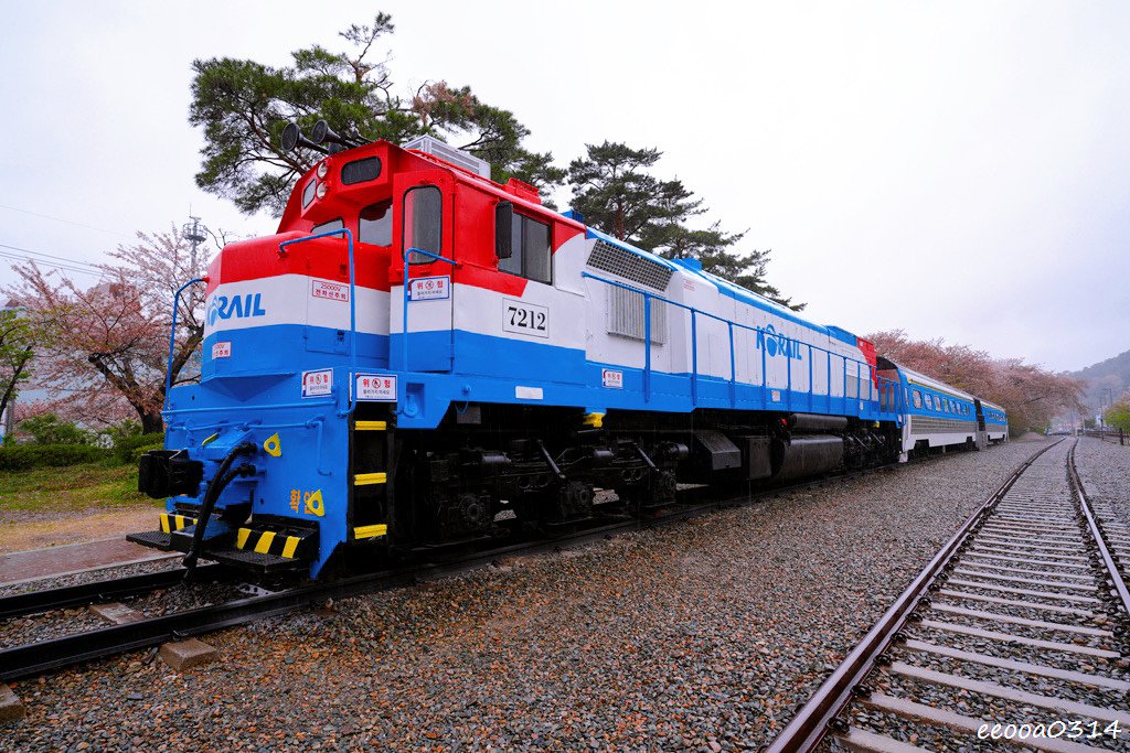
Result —
[{"label": "left steel rail of the empty track beside the train", "polygon": [[988,517],[997,504],[1008,493],[1025,471],[1041,455],[1063,441],[1052,443],[1040,449],[1005,480],[989,498],[966,520],[957,533],[935,554],[929,564],[914,578],[906,590],[879,618],[867,636],[852,649],[847,658],[824,681],[811,699],[797,712],[792,721],[765,748],[765,753],[808,753],[816,750],[829,732],[829,725],[851,701],[852,693],[875,667],[876,659],[887,650],[895,636],[902,630],[906,618],[918,608],[928,594],[930,585],[960,551],[963,544]]}]

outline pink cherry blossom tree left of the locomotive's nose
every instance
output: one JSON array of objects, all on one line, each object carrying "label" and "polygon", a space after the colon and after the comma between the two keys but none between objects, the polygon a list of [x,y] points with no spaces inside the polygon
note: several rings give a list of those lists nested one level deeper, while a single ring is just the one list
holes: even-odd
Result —
[{"label": "pink cherry blossom tree left of the locomotive's nose", "polygon": [[[158,432],[173,296],[188,280],[203,277],[207,253],[194,256],[174,226],[168,233],[138,233],[137,243],[110,256],[110,263],[96,265],[102,278],[93,286],[35,262],[16,264],[20,282],[7,292],[45,343],[34,385],[51,397],[40,408],[90,426],[136,418],[145,432]],[[174,384],[203,338],[203,295],[198,284],[181,297]]]}]

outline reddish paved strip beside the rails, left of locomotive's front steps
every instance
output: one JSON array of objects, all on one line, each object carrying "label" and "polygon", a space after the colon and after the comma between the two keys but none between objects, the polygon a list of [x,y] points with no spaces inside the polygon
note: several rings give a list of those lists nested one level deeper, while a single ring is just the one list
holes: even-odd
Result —
[{"label": "reddish paved strip beside the rails, left of locomotive's front steps", "polygon": [[82,572],[113,564],[148,562],[169,557],[148,546],[125,541],[124,536],[32,549],[0,554],[0,585]]}]

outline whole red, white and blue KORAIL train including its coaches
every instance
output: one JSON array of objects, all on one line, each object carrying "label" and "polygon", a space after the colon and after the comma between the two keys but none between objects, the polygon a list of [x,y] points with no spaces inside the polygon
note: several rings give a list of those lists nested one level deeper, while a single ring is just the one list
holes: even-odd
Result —
[{"label": "whole red, white and blue KORAIL train including its coaches", "polygon": [[[431,137],[324,157],[276,235],[227,245],[201,374],[167,391],[166,499],[131,541],[327,577],[1002,439],[1003,411],[868,341],[542,205]],[[329,147],[329,148],[328,148]],[[175,319],[174,319],[175,329]]]}]

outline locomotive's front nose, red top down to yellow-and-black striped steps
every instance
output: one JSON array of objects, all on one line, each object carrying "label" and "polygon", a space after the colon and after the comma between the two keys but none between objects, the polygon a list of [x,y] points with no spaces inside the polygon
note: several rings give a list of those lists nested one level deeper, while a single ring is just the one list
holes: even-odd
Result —
[{"label": "locomotive's front nose, red top down to yellow-and-black striped steps", "polygon": [[212,263],[200,383],[169,391],[166,449],[139,467],[166,511],[131,541],[190,566],[316,576],[350,537],[349,375],[388,365],[388,291],[350,279],[344,238],[287,244],[306,237],[232,244]]}]

